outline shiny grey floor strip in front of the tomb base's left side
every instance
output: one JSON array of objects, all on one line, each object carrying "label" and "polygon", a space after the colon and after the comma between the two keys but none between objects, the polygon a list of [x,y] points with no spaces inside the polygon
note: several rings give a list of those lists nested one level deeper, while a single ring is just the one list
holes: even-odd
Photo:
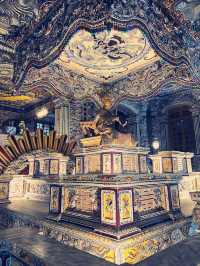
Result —
[{"label": "shiny grey floor strip in front of the tomb base's left side", "polygon": [[48,266],[112,266],[114,264],[38,235],[31,229],[0,230],[0,240],[9,240],[41,258]]}]

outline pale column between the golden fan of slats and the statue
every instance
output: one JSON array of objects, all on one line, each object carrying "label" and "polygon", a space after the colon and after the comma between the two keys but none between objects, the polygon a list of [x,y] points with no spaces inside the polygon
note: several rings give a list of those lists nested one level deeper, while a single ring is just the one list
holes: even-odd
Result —
[{"label": "pale column between the golden fan of slats and the statue", "polygon": [[55,130],[59,136],[67,134],[70,137],[69,101],[55,101]]}]

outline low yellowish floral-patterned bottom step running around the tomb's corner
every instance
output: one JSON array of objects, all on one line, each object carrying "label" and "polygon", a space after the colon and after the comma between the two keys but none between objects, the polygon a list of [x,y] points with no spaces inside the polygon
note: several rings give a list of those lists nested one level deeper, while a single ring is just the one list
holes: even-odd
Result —
[{"label": "low yellowish floral-patterned bottom step running around the tomb's corner", "polygon": [[[190,218],[151,226],[121,240],[68,224],[43,224],[45,235],[115,264],[138,263],[188,236]],[[45,229],[46,228],[46,229]]]}]

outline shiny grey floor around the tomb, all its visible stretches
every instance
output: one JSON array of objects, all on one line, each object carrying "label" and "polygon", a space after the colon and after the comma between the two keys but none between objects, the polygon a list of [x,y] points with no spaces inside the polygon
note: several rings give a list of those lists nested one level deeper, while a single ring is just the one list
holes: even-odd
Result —
[{"label": "shiny grey floor around the tomb, all its visible stretches", "polygon": [[[48,204],[36,201],[15,201],[1,208],[8,208],[15,212],[24,213],[38,218],[44,218],[48,213]],[[38,235],[30,229],[18,231],[16,229],[0,230],[0,239],[9,239],[47,261],[48,266],[111,266],[112,263],[89,255],[80,250],[62,245],[52,239]],[[127,265],[127,264],[126,264]],[[153,257],[137,266],[198,266],[200,265],[200,236],[192,237]]]}]

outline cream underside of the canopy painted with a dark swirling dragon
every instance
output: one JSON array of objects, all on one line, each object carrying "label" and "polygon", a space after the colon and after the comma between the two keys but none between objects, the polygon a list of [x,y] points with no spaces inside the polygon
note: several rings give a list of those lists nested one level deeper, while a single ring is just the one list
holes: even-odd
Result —
[{"label": "cream underside of the canopy painted with a dark swirling dragon", "polygon": [[139,29],[111,29],[97,33],[80,30],[73,35],[56,63],[100,83],[118,80],[158,61]]}]

